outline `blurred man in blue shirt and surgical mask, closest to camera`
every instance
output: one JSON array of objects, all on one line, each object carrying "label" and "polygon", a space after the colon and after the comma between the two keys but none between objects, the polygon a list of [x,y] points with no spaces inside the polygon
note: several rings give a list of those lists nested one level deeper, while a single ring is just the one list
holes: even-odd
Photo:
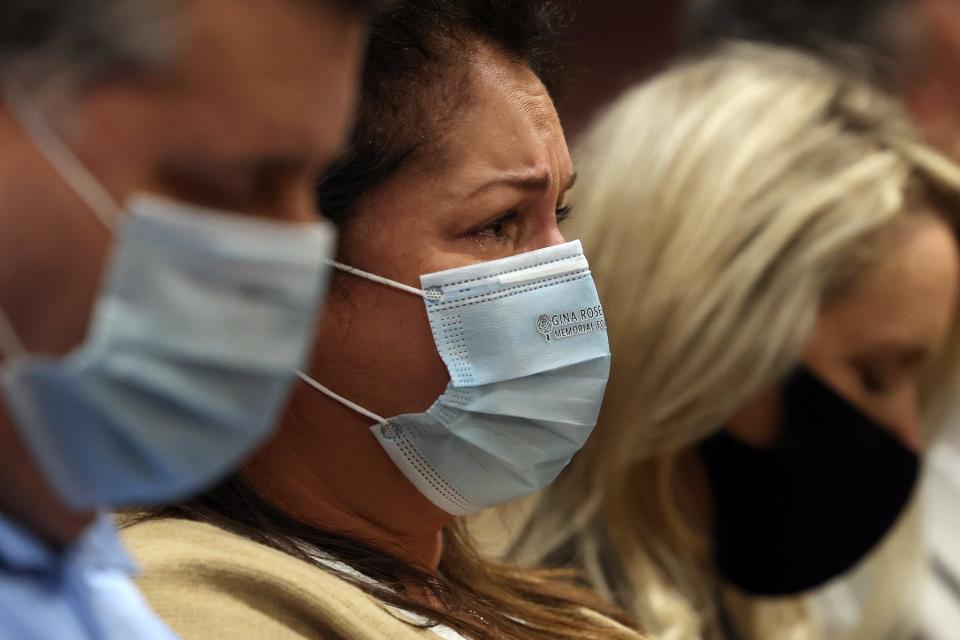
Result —
[{"label": "blurred man in blue shirt and surgical mask, closest to camera", "polygon": [[0,637],[168,637],[98,513],[269,433],[378,4],[0,5]]}]

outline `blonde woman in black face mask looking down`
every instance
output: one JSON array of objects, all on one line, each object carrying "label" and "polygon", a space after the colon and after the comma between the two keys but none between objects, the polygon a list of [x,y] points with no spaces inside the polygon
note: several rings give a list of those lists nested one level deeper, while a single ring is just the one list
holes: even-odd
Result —
[{"label": "blonde woman in black face mask looking down", "polygon": [[[803,594],[915,549],[960,171],[884,97],[741,44],[626,94],[576,157],[613,369],[514,555],[585,569],[658,637],[817,637]],[[907,578],[879,582],[903,604]],[[902,613],[870,611],[871,640]]]}]

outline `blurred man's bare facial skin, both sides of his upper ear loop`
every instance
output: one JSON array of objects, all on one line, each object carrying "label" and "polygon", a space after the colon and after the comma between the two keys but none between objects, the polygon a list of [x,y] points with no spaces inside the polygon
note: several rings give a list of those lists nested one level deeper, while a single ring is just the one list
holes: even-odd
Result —
[{"label": "blurred man's bare facial skin, both sides of his upper ear loop", "polygon": [[[325,0],[179,3],[168,70],[108,78],[51,125],[120,204],[138,191],[287,221],[339,151],[365,30]],[[31,352],[84,337],[111,236],[0,110],[0,305]],[[25,285],[29,283],[29,287]]]}]

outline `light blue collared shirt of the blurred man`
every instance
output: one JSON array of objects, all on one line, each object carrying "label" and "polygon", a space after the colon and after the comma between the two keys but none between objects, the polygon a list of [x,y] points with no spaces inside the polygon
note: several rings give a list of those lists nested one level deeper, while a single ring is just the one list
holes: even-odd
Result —
[{"label": "light blue collared shirt of the blurred man", "polygon": [[135,570],[108,517],[55,552],[0,516],[0,640],[176,640]]}]

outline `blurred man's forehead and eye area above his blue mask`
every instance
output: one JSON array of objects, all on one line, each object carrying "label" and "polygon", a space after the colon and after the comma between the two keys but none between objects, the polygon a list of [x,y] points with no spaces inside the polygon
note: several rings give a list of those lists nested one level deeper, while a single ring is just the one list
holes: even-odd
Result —
[{"label": "blurred man's forehead and eye area above his blue mask", "polygon": [[68,144],[118,198],[313,219],[353,110],[361,21],[325,0],[192,0],[184,13],[169,77],[94,92]]}]

